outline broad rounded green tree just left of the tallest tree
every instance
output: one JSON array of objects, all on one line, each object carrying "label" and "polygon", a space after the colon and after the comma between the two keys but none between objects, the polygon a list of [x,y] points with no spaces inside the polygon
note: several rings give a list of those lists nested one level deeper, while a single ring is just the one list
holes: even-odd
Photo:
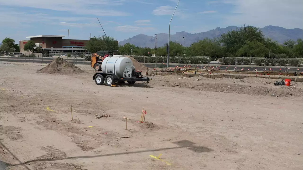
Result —
[{"label": "broad rounded green tree just left of the tallest tree", "polygon": [[187,48],[188,56],[221,56],[222,47],[218,39],[204,38]]}]

